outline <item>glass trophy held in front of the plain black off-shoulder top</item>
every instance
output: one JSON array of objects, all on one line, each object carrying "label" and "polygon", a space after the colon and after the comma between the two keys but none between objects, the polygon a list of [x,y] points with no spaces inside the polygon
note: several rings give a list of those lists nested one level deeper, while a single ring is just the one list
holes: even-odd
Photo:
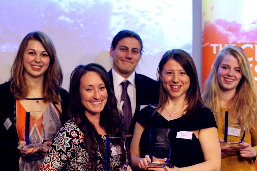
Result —
[{"label": "glass trophy held in front of the plain black off-shoulder top", "polygon": [[151,161],[153,161],[153,157],[159,159],[167,159],[165,162],[148,163],[146,167],[164,168],[165,166],[168,166],[173,168],[173,165],[168,163],[171,154],[170,142],[168,139],[170,129],[150,128],[149,131],[149,157]]}]

